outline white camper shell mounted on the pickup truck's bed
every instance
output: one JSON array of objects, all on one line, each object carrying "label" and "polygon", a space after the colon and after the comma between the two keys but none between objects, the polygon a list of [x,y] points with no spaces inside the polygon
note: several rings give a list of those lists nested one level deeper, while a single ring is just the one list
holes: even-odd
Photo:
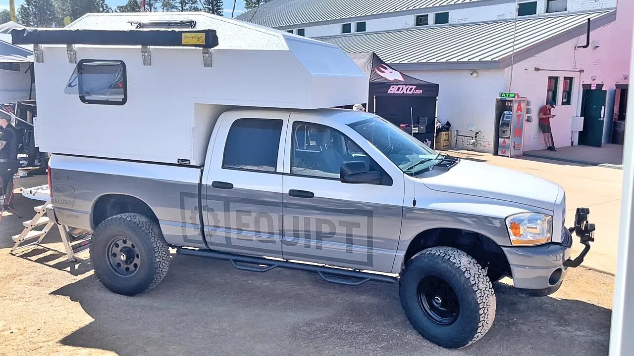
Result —
[{"label": "white camper shell mounted on the pickup truck's bed", "polygon": [[[156,41],[186,30],[183,44],[193,45],[200,38],[191,32],[215,30],[217,46],[101,41],[127,35],[122,30],[152,31]],[[208,13],[87,14],[48,31],[70,34],[62,39],[85,34],[74,43],[34,42],[36,142],[51,153],[203,165],[228,108],[353,105],[367,92],[363,72],[336,46]],[[92,89],[77,86],[77,68],[93,74],[85,79]]]}]

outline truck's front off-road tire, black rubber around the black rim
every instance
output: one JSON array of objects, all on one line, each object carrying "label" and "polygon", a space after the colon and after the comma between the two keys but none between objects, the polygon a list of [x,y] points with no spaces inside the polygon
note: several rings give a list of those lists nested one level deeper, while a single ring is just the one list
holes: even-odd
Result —
[{"label": "truck's front off-road tire, black rubber around the black rim", "polygon": [[[428,276],[443,279],[455,291],[459,312],[449,325],[437,324],[424,312],[418,286]],[[474,258],[456,248],[428,248],[407,260],[399,280],[399,294],[414,329],[445,348],[474,343],[489,331],[495,319],[496,300],[489,277]]]}]

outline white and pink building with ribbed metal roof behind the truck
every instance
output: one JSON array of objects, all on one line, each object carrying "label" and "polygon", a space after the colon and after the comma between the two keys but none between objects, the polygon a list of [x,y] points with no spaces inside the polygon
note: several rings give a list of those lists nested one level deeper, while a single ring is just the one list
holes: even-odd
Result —
[{"label": "white and pink building with ribbed metal roof behind the truck", "polygon": [[[458,130],[453,148],[493,152],[500,92],[516,92],[531,104],[524,151],[545,147],[538,110],[547,99],[557,103],[551,120],[557,147],[611,142],[612,118],[624,117],[634,1],[518,3],[270,0],[239,19],[315,37],[347,53],[373,51],[397,70],[439,84],[437,117]],[[593,90],[605,91],[602,103],[595,98],[602,93]],[[602,110],[589,107],[598,104]],[[586,126],[593,124],[579,141],[584,123],[575,117],[583,115]]]}]

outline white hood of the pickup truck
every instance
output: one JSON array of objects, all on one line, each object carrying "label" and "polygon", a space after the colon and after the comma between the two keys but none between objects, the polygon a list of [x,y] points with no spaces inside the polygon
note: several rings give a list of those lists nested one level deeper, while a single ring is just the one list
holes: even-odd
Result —
[{"label": "white hood of the pickup truck", "polygon": [[422,177],[429,189],[512,201],[554,211],[560,187],[534,175],[485,163],[460,160],[443,174]]}]

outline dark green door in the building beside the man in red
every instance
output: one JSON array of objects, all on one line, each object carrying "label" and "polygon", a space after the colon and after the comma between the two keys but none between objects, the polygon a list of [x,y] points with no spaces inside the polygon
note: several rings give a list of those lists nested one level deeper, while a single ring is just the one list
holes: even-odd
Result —
[{"label": "dark green door in the building beside the man in red", "polygon": [[606,91],[586,89],[583,92],[583,131],[579,132],[579,144],[601,147],[605,116]]}]

